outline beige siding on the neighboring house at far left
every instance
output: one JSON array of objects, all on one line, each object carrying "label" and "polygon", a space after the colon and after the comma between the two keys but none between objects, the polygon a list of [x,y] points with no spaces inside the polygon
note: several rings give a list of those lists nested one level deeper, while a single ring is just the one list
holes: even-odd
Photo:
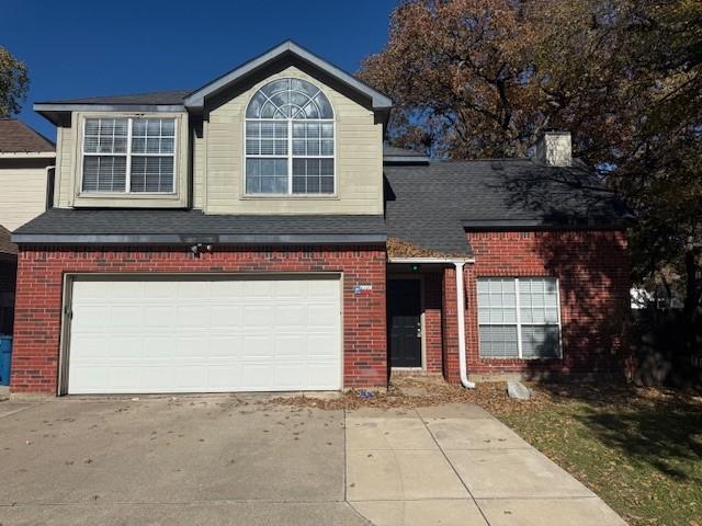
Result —
[{"label": "beige siding on the neighboring house at far left", "polygon": [[[15,168],[9,163],[0,161],[0,225],[12,231],[46,209],[46,168]],[[53,163],[53,159],[46,162]]]}]

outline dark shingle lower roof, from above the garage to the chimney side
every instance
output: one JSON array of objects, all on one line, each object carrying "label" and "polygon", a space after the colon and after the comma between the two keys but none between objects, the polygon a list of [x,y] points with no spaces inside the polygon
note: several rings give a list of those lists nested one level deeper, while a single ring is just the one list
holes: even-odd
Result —
[{"label": "dark shingle lower roof, from above the garage to the chimney side", "polygon": [[14,233],[251,239],[302,235],[312,240],[315,236],[387,235],[430,252],[469,255],[465,229],[621,228],[630,220],[618,196],[577,161],[568,168],[544,167],[529,159],[446,161],[386,165],[384,172],[385,217],[54,208]]}]

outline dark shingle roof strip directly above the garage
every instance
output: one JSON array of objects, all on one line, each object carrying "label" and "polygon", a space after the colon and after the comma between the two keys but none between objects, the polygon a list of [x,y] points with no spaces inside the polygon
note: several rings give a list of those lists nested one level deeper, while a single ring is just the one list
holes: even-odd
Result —
[{"label": "dark shingle roof strip directly above the garage", "polygon": [[205,215],[201,210],[52,208],[13,235],[240,236],[242,240],[257,236],[383,237],[385,221],[382,216],[234,216]]}]

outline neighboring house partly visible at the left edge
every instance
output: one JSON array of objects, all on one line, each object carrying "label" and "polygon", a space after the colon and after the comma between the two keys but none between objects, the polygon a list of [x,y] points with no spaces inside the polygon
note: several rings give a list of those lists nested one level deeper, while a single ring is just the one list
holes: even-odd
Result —
[{"label": "neighboring house partly visible at the left edge", "polygon": [[14,118],[0,118],[0,334],[12,334],[18,247],[10,232],[46,210],[54,144]]}]

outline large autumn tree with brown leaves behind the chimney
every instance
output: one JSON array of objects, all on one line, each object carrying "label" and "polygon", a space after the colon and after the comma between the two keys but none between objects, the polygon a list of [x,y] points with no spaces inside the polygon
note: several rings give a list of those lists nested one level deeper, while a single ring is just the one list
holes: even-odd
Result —
[{"label": "large autumn tree with brown leaves behind the chimney", "polygon": [[693,328],[701,62],[699,0],[409,0],[360,75],[396,103],[392,141],[437,157],[523,156],[543,130],[570,130],[638,215],[635,279],[678,287]]}]

